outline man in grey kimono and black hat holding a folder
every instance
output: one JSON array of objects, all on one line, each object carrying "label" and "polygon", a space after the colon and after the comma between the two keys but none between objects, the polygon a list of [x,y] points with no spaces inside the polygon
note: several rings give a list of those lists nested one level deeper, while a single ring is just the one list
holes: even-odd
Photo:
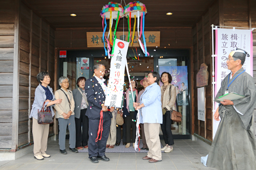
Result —
[{"label": "man in grey kimono and black hat holding a folder", "polygon": [[[219,103],[214,118],[219,124],[211,150],[206,157],[206,165],[217,169],[256,169],[256,143],[252,114],[256,104],[253,78],[242,67],[248,53],[237,48],[227,58],[231,70],[221,83],[215,102]],[[219,101],[220,97],[231,92],[240,99]],[[229,95],[230,96],[230,95]],[[234,95],[233,95],[234,96]]]}]

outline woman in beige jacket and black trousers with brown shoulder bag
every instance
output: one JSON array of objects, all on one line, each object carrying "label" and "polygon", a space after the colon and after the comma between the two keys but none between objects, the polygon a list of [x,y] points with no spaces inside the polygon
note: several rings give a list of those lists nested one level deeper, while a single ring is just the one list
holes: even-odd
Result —
[{"label": "woman in beige jacket and black trousers with brown shoulder bag", "polygon": [[172,76],[168,72],[163,72],[160,81],[163,83],[161,86],[161,102],[163,111],[163,124],[161,124],[161,129],[163,132],[163,138],[165,142],[165,147],[161,149],[165,153],[173,151],[173,133],[170,129],[172,127],[173,120],[170,118],[173,110],[176,110],[176,89],[172,83]]}]

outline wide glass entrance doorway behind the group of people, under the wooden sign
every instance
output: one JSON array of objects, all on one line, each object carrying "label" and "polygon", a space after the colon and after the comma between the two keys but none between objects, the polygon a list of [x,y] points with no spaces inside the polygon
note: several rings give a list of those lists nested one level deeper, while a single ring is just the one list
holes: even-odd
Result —
[{"label": "wide glass entrance doorway behind the group of people, under the wooden sign", "polygon": [[[139,57],[134,60],[131,55],[127,57],[130,78],[138,82],[138,91],[143,89],[140,80],[150,71],[169,72],[177,88],[177,108],[182,113],[182,122],[172,125],[174,139],[191,138],[190,115],[190,77],[189,77],[189,50],[150,50],[150,57]],[[131,51],[130,51],[130,54]],[[102,63],[105,65],[105,76],[109,75],[111,59],[105,57],[102,51],[67,51],[68,58],[59,59],[59,77],[67,76],[70,79],[70,90],[77,88],[76,80],[83,76],[89,79],[93,76],[93,65]],[[137,55],[136,55],[137,56]],[[142,54],[141,54],[142,56]],[[161,86],[162,83],[159,83]],[[129,88],[129,80],[125,70],[124,90]],[[160,135],[161,136],[161,135]]]}]

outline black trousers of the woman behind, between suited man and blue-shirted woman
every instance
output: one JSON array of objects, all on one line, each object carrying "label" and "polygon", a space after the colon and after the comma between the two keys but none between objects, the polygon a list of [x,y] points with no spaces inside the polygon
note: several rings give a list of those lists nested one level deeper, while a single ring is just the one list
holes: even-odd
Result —
[{"label": "black trousers of the woman behind, between suited man and blue-shirted woman", "polygon": [[[134,114],[135,112],[130,111],[130,115],[125,117],[127,143],[135,143],[135,139],[136,139],[136,122],[134,122]],[[132,128],[132,138],[131,138],[131,128]]]}]

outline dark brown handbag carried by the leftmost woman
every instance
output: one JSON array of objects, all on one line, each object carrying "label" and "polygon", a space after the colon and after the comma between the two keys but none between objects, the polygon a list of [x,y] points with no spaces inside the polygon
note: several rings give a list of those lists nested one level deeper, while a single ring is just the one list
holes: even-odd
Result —
[{"label": "dark brown handbag carried by the leftmost woman", "polygon": [[47,107],[47,109],[44,109],[45,103],[42,104],[42,108],[37,113],[37,123],[41,124],[41,125],[46,125],[46,124],[52,124],[53,123],[53,118],[52,118],[52,112],[49,109],[49,107]]}]

